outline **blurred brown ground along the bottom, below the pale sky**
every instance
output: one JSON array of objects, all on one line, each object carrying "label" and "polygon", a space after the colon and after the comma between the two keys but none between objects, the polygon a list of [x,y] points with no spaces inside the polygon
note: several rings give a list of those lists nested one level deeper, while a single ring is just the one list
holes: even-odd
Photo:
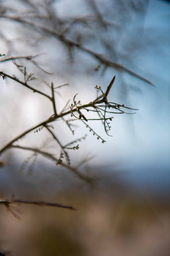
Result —
[{"label": "blurred brown ground along the bottom, below the pale sky", "polygon": [[20,205],[17,220],[1,207],[1,250],[13,256],[168,256],[168,199],[129,188],[117,175],[100,178],[95,190],[72,184],[48,198],[77,211]]}]

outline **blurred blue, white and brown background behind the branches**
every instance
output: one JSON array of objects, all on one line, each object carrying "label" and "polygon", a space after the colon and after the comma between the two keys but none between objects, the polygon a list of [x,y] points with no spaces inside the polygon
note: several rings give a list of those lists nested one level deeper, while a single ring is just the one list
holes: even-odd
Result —
[{"label": "blurred blue, white and brown background behind the branches", "polygon": [[[77,123],[72,136],[57,121],[54,131],[63,143],[88,134],[80,149],[70,152],[72,166],[96,179],[88,186],[69,170],[38,156],[32,171],[32,154],[18,149],[0,160],[0,193],[22,200],[73,205],[77,211],[24,206],[16,219],[0,206],[0,249],[11,255],[168,255],[170,223],[169,67],[170,4],[168,1],[0,1],[0,53],[38,55],[43,72],[28,60],[17,60],[38,80],[30,84],[50,94],[43,80],[55,86],[69,83],[56,94],[61,110],[76,93],[82,103],[95,98],[94,86],[107,85],[116,75],[109,100],[138,108],[134,115],[115,115],[108,137],[100,122],[90,125],[104,138],[102,144]],[[10,18],[12,17],[12,18]],[[119,69],[104,69],[80,49],[68,49],[50,33],[17,22],[17,18],[44,26],[107,59],[145,77],[152,86]],[[46,18],[50,17],[50,19]],[[79,19],[78,19],[79,18]],[[78,20],[75,22],[75,20]],[[73,22],[74,21],[74,22]],[[70,25],[71,24],[71,25]],[[1,57],[2,59],[2,57]],[[23,75],[12,62],[0,70]],[[51,72],[52,74],[48,74]],[[47,119],[53,113],[46,98],[9,79],[0,79],[0,145]],[[70,103],[71,103],[70,101]],[[19,141],[60,154],[44,130]],[[29,160],[28,164],[24,164]]]}]

